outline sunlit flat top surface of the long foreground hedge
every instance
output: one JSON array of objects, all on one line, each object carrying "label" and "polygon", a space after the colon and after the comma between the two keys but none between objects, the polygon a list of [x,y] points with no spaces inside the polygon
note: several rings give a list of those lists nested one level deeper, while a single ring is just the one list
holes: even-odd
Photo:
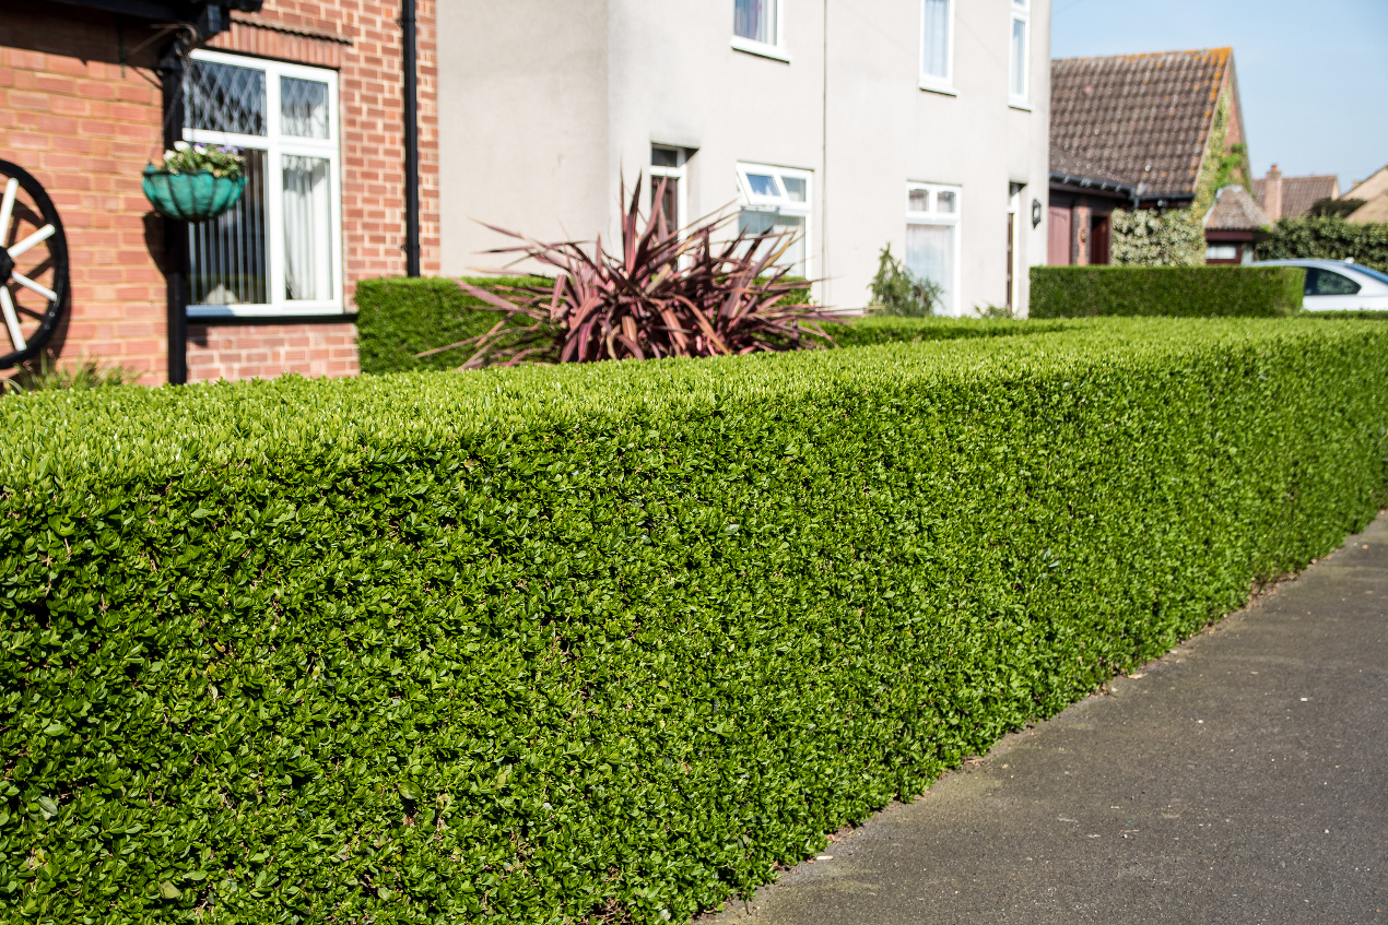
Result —
[{"label": "sunlit flat top surface of the long foreground hedge", "polygon": [[[380,377],[40,392],[0,401],[0,485],[169,480],[208,466],[348,462],[577,420],[686,416],[729,401],[824,395],[873,381],[1022,376],[1056,366],[1162,362],[1206,345],[1355,338],[1370,322],[1087,319],[1029,337],[841,351],[608,362]],[[0,488],[3,491],[3,488]]]}]

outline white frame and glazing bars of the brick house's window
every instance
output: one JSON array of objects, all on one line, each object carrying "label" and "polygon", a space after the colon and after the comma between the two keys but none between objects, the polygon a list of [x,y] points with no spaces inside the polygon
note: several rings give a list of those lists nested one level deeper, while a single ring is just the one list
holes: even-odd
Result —
[{"label": "white frame and glazing bars of the brick house's window", "polygon": [[[208,132],[205,129],[183,129],[183,140],[203,144],[235,144],[240,148],[265,151],[265,258],[266,294],[264,305],[189,305],[189,318],[273,318],[276,315],[340,315],[343,312],[343,241],[341,241],[341,150],[339,139],[341,126],[337,111],[337,72],[328,68],[311,68],[300,64],[251,58],[225,51],[193,51],[194,61],[226,64],[236,68],[251,68],[265,74],[265,135],[233,135],[229,132]],[[282,135],[279,130],[279,79],[298,78],[328,85],[328,137],[303,139]],[[330,258],[333,272],[332,298],[287,300],[285,298],[285,209],[283,158],[314,157],[328,161],[330,216]]]}]

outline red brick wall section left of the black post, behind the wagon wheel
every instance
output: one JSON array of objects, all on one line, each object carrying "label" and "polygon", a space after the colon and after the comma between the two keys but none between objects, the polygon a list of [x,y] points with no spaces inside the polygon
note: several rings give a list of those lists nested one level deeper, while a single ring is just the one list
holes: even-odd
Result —
[{"label": "red brick wall section left of the black post, behind the wagon wheel", "polygon": [[[0,159],[53,197],[68,237],[72,312],[50,341],[64,358],[167,372],[162,250],[140,171],[162,151],[162,97],[149,67],[119,64],[122,35],[100,14],[0,3]],[[126,47],[149,35],[126,28]],[[136,62],[153,64],[150,54]],[[8,349],[8,341],[4,341]]]}]

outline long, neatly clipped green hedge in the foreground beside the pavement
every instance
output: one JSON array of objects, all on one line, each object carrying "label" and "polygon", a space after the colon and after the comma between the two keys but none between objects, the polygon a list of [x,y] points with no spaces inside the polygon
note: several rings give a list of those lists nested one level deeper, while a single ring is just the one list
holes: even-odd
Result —
[{"label": "long, neatly clipped green hedge in the foreground beside the pavement", "polygon": [[0,402],[0,919],[687,921],[1377,510],[1388,327]]}]

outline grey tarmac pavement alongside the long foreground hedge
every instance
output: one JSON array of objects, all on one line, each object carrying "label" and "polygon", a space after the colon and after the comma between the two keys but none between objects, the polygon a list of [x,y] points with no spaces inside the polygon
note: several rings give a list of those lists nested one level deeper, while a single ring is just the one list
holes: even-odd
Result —
[{"label": "grey tarmac pavement alongside the long foreground hedge", "polygon": [[1388,516],[1110,686],[705,922],[1388,924]]}]

